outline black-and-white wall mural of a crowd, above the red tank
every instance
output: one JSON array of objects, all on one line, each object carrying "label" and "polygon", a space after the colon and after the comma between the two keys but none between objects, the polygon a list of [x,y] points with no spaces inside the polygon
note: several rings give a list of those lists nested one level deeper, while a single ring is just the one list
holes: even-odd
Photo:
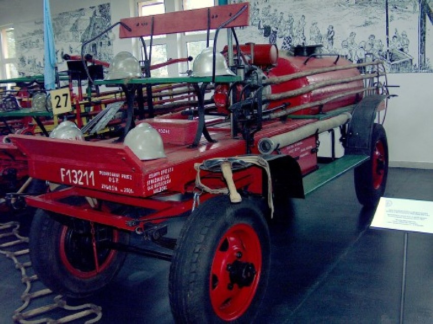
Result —
[{"label": "black-and-white wall mural of a crowd, above the red tank", "polygon": [[322,45],[355,63],[383,60],[391,73],[433,72],[433,0],[249,2],[250,26],[236,31],[241,43]]}]

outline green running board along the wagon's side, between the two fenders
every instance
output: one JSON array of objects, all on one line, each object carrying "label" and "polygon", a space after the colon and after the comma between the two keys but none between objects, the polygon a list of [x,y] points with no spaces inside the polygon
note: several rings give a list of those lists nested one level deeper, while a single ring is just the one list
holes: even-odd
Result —
[{"label": "green running board along the wagon's side, between the two fenders", "polygon": [[315,191],[368,159],[369,157],[365,155],[345,155],[329,164],[319,166],[317,171],[304,176],[304,194]]}]

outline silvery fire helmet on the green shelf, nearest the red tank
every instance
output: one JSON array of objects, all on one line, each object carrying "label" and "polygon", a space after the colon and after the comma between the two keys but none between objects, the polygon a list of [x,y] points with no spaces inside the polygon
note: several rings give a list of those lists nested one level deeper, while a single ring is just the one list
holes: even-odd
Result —
[{"label": "silvery fire helmet on the green shelf, nearest the red tank", "polygon": [[[213,47],[207,47],[197,55],[193,64],[193,76],[212,76]],[[219,51],[215,52],[215,76],[236,75],[227,66],[226,58]]]}]

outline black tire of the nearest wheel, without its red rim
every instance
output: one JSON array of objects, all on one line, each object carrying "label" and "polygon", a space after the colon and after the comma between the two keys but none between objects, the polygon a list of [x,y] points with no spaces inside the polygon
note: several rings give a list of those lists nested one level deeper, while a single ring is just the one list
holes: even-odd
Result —
[{"label": "black tire of the nearest wheel, without its red rim", "polygon": [[[251,293],[253,289],[250,287],[241,288],[247,289],[246,291],[250,293],[250,304],[246,303],[246,306],[242,306],[241,312],[233,320],[225,320],[214,311],[212,306],[210,297],[211,278],[213,279],[214,276],[211,271],[214,269],[212,262],[217,252],[221,251],[225,235],[230,230],[245,225],[257,235],[253,241],[259,242],[261,248],[260,276],[257,277],[255,292]],[[248,240],[246,238],[243,242]],[[243,260],[243,257],[248,259],[248,251],[244,253],[240,260]],[[223,264],[223,262],[215,264]],[[265,294],[269,266],[269,230],[258,200],[252,197],[243,198],[240,203],[232,204],[227,196],[217,196],[205,201],[185,222],[173,254],[169,275],[169,298],[175,322],[190,324],[252,322]],[[237,283],[235,285],[239,288]],[[223,284],[221,287],[224,289]]]}]

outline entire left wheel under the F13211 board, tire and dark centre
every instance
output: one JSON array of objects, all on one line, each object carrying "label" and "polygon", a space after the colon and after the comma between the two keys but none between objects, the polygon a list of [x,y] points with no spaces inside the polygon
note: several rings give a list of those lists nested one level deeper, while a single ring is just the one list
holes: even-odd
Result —
[{"label": "entire left wheel under the F13211 board, tire and dark centre", "polygon": [[110,243],[129,243],[129,233],[87,221],[49,216],[38,210],[29,235],[32,266],[53,291],[72,298],[88,296],[120,270],[127,253]]}]

